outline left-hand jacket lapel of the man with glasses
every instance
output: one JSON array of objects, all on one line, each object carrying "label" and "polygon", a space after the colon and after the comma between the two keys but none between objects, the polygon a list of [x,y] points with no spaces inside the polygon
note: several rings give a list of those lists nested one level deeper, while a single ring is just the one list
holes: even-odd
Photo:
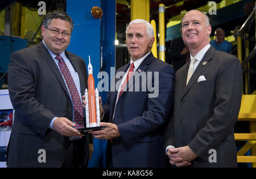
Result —
[{"label": "left-hand jacket lapel of the man with glasses", "polygon": [[68,97],[68,89],[65,85],[64,79],[61,76],[60,70],[57,67],[55,61],[52,59],[51,54],[48,52],[48,49],[44,46],[43,42],[41,41],[38,46],[39,54],[42,56],[42,59],[46,61],[46,63],[49,65],[49,68],[52,69],[52,72],[56,75],[57,79],[59,80],[61,86],[63,87],[64,91],[67,93]]}]

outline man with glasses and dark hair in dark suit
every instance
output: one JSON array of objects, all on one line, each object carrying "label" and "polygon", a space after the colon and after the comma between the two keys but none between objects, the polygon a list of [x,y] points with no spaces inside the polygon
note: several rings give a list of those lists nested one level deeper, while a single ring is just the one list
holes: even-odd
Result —
[{"label": "man with glasses and dark hair in dark suit", "polygon": [[11,55],[8,85],[15,116],[8,167],[88,164],[88,137],[77,131],[84,127],[81,94],[87,71],[84,60],[65,50],[72,30],[66,13],[49,13],[43,41]]}]

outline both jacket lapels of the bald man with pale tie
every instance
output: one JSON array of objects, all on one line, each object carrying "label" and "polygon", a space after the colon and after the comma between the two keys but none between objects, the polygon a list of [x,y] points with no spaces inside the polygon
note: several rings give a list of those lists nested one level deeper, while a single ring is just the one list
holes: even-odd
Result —
[{"label": "both jacket lapels of the bald man with pale tie", "polygon": [[[200,77],[200,75],[204,72],[205,69],[208,68],[210,65],[209,61],[212,60],[213,58],[213,53],[214,53],[214,48],[210,47],[208,51],[205,53],[203,59],[200,61],[199,65],[197,66],[195,72],[192,74],[188,85],[185,86],[185,89],[183,91],[183,95],[181,95],[181,99],[184,97],[185,94],[191,89],[191,87],[197,82],[197,79]],[[190,63],[190,61],[189,61]],[[185,85],[187,81],[187,74],[188,74],[188,68],[189,68],[189,63],[187,64],[186,68],[183,71],[183,76],[182,76],[182,84]]]}]

